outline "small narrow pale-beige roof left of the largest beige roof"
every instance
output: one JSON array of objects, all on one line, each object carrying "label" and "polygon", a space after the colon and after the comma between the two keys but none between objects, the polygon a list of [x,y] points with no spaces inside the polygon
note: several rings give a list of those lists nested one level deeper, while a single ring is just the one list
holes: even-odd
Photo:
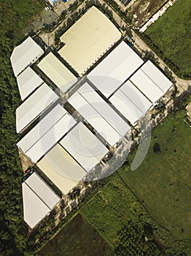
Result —
[{"label": "small narrow pale-beige roof left of the largest beige roof", "polygon": [[38,67],[62,91],[66,91],[77,81],[77,78],[53,53],[45,56],[38,64]]}]

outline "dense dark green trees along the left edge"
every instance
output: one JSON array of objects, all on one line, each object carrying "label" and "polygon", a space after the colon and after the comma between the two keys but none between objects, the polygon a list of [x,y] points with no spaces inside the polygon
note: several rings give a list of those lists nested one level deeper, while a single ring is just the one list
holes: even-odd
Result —
[{"label": "dense dark green trees along the left edge", "polygon": [[26,247],[23,223],[22,170],[15,147],[15,109],[20,97],[10,64],[15,44],[31,16],[42,10],[36,0],[4,0],[0,10],[0,255],[22,255]]}]

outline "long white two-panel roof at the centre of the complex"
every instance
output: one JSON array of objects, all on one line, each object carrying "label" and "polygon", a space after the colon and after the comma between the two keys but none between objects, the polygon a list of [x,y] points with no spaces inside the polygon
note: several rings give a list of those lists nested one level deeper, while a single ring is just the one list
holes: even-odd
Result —
[{"label": "long white two-panel roof at the centre of the complex", "polygon": [[68,101],[111,146],[130,130],[128,124],[88,83]]}]

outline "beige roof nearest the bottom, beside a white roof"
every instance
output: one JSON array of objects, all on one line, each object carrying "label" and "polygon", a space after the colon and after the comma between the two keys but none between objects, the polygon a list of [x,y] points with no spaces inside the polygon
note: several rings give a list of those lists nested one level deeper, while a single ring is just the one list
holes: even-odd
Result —
[{"label": "beige roof nearest the bottom, beside a white roof", "polygon": [[37,166],[58,189],[67,194],[85,176],[85,170],[59,144],[43,157]]}]

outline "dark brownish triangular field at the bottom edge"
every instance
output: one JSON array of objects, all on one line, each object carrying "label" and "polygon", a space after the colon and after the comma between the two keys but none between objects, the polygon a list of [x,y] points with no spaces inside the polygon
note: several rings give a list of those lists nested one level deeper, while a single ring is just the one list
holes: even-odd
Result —
[{"label": "dark brownish triangular field at the bottom edge", "polygon": [[38,256],[114,255],[113,249],[99,233],[77,214],[43,249]]}]

